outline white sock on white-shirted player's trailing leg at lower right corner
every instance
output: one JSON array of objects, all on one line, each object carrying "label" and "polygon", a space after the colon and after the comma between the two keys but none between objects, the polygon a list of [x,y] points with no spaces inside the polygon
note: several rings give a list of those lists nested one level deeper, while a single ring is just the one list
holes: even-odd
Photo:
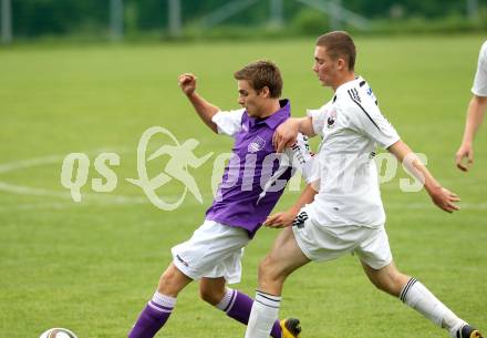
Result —
[{"label": "white sock on white-shirted player's trailing leg at lower right corner", "polygon": [[466,324],[415,278],[411,278],[404,286],[400,299],[437,326],[446,328],[453,337]]}]

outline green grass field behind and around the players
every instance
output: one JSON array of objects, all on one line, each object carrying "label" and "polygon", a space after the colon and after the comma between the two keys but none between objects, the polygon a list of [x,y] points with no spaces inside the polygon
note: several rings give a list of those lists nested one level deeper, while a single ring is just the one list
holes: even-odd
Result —
[{"label": "green grass field behind and around the players", "polygon": [[[481,37],[359,38],[358,73],[369,80],[383,113],[402,139],[427,154],[428,167],[457,192],[463,209],[449,215],[424,192],[402,193],[400,177],[382,186],[387,231],[401,269],[428,286],[466,320],[487,330],[487,134],[476,140],[476,163],[453,164]],[[211,134],[177,88],[191,71],[200,93],[238,107],[232,72],[257,59],[276,61],[293,115],[318,107],[331,92],[311,72],[312,40],[279,42],[100,45],[0,50],[0,337],[35,338],[68,327],[80,338],[125,337],[169,248],[187,239],[211,202],[211,161],[191,170],[204,195],[188,195],[174,212],[154,207],[125,178],[137,176],[142,133],[160,125],[179,140],[197,139],[198,156],[229,150]],[[121,155],[115,191],[90,181],[74,203],[60,184],[63,157]],[[154,170],[154,168],[153,168]],[[158,193],[175,196],[178,184]],[[120,198],[125,196],[125,198]],[[279,208],[298,193],[288,193]],[[257,265],[278,231],[261,229],[244,260],[238,288],[253,295]],[[447,337],[397,299],[376,290],[355,257],[310,264],[287,283],[281,316],[302,318],[304,338]],[[245,327],[198,300],[196,284],[178,298],[158,337],[244,337]]]}]

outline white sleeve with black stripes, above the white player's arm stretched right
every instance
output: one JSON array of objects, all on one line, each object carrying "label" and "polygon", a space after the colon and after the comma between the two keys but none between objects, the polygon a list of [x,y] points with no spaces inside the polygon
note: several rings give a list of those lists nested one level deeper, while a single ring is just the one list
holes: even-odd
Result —
[{"label": "white sleeve with black stripes, above the white player's arm stretched right", "polygon": [[351,126],[359,133],[372,139],[381,147],[387,148],[397,141],[400,135],[394,126],[381,113],[373,100],[351,100]]}]

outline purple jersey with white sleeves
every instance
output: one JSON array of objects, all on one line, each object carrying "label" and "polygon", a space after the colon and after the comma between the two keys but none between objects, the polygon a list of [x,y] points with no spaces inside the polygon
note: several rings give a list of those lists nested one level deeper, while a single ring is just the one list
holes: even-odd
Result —
[{"label": "purple jersey with white sleeves", "polygon": [[235,144],[206,219],[245,228],[252,237],[282,195],[292,166],[307,177],[311,155],[302,135],[282,155],[272,145],[276,129],[290,117],[290,102],[280,104],[267,119],[250,117],[245,109],[214,116],[218,132],[235,137]]}]

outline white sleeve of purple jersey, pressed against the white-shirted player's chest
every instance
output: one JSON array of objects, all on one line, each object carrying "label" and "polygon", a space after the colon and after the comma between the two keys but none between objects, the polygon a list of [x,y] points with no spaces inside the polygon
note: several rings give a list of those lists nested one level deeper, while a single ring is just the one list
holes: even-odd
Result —
[{"label": "white sleeve of purple jersey, pressed against the white-shirted player's chest", "polygon": [[292,146],[287,147],[284,154],[286,163],[281,163],[281,165],[291,165],[293,168],[298,170],[307,183],[311,183],[315,180],[313,178],[314,158],[310,152],[307,136],[298,134],[297,142]]}]

